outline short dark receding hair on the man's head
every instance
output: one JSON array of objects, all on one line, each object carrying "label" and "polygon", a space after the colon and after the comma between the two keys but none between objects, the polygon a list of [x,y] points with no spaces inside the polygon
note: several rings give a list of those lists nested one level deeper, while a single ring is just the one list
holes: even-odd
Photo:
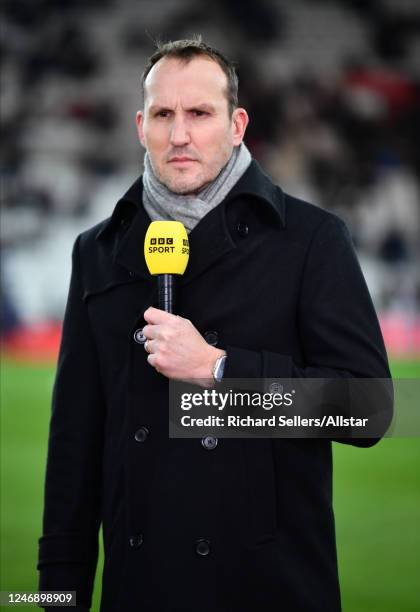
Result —
[{"label": "short dark receding hair on the man's head", "polygon": [[156,51],[148,58],[141,77],[143,100],[145,97],[144,83],[147,75],[153,66],[160,59],[162,59],[162,57],[172,57],[188,63],[194,57],[199,57],[200,55],[209,57],[214,62],[217,62],[225,73],[227,78],[226,97],[228,101],[229,114],[232,115],[233,111],[238,106],[238,75],[236,74],[235,65],[233,62],[228,60],[223,53],[218,51],[218,49],[210,47],[210,45],[204,43],[200,35],[183,40],[156,43]]}]

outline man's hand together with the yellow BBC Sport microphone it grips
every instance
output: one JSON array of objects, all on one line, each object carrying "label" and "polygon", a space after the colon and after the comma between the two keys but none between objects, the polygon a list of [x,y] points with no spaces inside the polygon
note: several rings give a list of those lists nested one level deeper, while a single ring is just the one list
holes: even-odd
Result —
[{"label": "man's hand together with the yellow BBC Sport microphone it grips", "polygon": [[157,277],[159,304],[159,309],[150,307],[144,313],[147,361],[168,378],[208,386],[225,351],[207,344],[191,321],[173,314],[177,276],[185,272],[189,257],[182,223],[153,221],[146,233],[144,255],[150,274]]}]

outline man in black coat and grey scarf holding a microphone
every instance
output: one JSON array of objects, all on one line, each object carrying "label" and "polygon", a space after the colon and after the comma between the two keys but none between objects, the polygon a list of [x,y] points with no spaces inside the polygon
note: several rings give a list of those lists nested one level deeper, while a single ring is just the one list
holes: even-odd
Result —
[{"label": "man in black coat and grey scarf holding a microphone", "polygon": [[[143,177],[73,251],[40,588],[89,609],[102,523],[102,612],[339,610],[331,442],[169,439],[168,380],[388,377],[349,235],[251,159],[220,52],[163,45],[143,87]],[[153,307],[157,219],[189,232],[177,315]]]}]

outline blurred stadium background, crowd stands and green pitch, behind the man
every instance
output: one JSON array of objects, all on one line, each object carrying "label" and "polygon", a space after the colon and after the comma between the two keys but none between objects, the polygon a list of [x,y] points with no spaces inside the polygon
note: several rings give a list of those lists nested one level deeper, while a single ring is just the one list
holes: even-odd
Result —
[{"label": "blurred stadium background, crowd stands and green pitch, behind the man", "polygon": [[[1,18],[0,588],[35,590],[71,247],[142,170],[154,39],[202,33],[238,62],[252,153],[347,222],[393,375],[420,378],[420,2],[3,0]],[[419,440],[334,453],[344,612],[419,610]]]}]

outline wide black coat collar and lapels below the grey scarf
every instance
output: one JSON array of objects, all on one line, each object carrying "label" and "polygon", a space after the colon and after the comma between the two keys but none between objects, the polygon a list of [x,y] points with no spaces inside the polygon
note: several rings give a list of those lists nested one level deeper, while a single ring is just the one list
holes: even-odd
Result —
[{"label": "wide black coat collar and lapels below the grey scarf", "polygon": [[[96,234],[96,239],[104,242],[111,240],[114,261],[136,276],[150,279],[143,248],[151,219],[142,203],[142,191],[142,177],[139,177],[118,201],[112,216]],[[225,202],[242,196],[251,196],[265,203],[274,212],[278,223],[285,226],[283,192],[272,183],[255,160],[234,185]],[[113,236],[120,235],[120,232],[124,232],[123,235],[118,240],[113,240]],[[203,217],[190,232],[189,241],[190,252],[195,256],[188,263],[182,284],[188,283],[236,248],[226,224],[226,207],[216,206]]]}]

